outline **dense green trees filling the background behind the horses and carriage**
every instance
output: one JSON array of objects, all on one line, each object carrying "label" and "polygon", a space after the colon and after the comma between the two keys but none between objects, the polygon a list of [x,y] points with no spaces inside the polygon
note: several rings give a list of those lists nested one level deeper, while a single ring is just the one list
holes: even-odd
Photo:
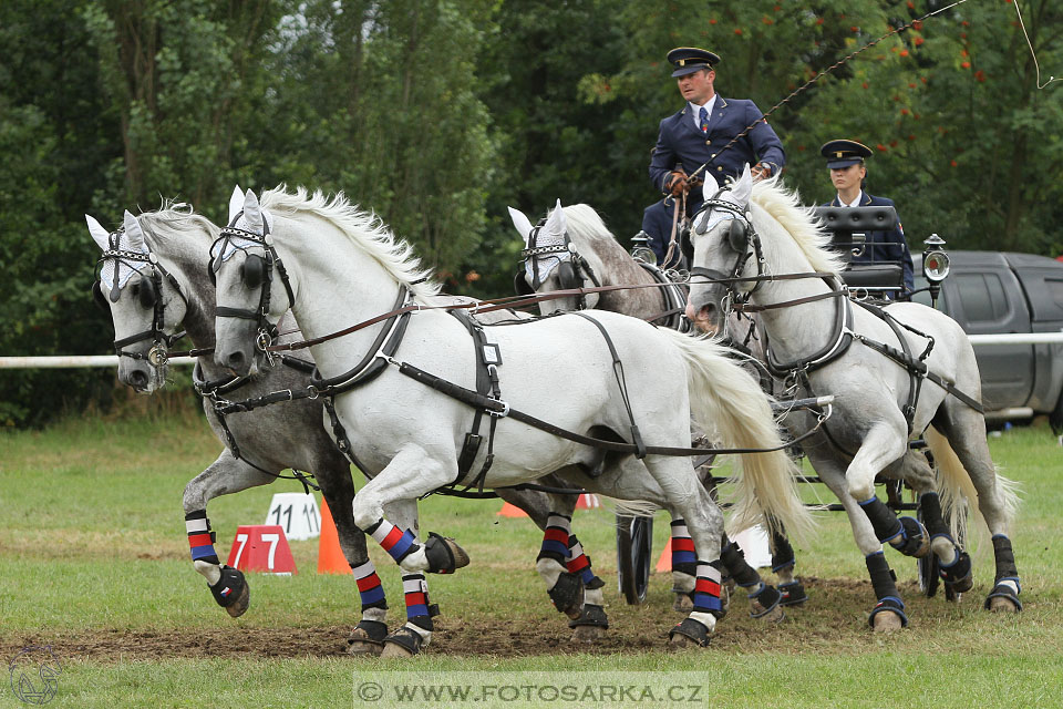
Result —
[{"label": "dense green trees filling the background behind the horses and carriage", "polygon": [[[794,94],[770,120],[806,202],[832,196],[819,145],[853,137],[875,150],[868,189],[898,203],[914,249],[937,232],[1056,255],[1063,102],[1045,82],[1063,74],[1063,6],[1022,0],[1024,34],[1012,0],[949,4],[7,0],[0,353],[109,351],[84,213],[116,224],[177,196],[221,220],[234,183],[342,189],[451,290],[506,295],[522,247],[506,206],[586,202],[621,239],[638,230],[659,197],[658,123],[681,106],[677,45],[723,56],[725,96],[768,111]],[[0,423],[44,421],[111,381],[3,372]]]}]

